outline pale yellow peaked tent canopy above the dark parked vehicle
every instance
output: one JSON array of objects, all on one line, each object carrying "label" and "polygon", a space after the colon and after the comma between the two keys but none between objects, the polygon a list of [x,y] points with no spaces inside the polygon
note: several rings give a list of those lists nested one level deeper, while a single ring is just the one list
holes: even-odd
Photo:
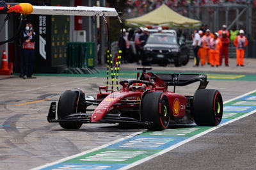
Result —
[{"label": "pale yellow peaked tent canopy above the dark parked vehicle", "polygon": [[183,27],[192,28],[201,25],[200,20],[189,19],[171,10],[166,4],[162,4],[156,10],[136,17],[125,20],[127,26],[169,26],[169,27]]}]

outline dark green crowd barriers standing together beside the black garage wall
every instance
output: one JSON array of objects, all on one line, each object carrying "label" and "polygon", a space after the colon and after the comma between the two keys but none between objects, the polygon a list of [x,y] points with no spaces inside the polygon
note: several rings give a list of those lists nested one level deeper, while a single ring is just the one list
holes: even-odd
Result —
[{"label": "dark green crowd barriers standing together beside the black garage wall", "polygon": [[65,73],[97,73],[94,42],[67,43],[67,70]]}]

